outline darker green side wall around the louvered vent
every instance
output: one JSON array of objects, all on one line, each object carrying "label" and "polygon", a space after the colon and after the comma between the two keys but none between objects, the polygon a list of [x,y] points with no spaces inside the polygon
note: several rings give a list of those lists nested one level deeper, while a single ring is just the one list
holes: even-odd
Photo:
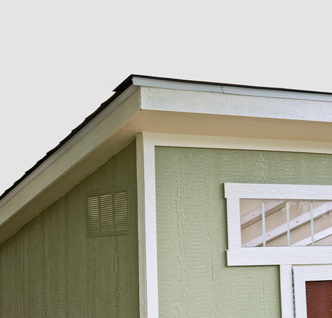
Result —
[{"label": "darker green side wall around the louvered vent", "polygon": [[[130,235],[86,238],[85,194],[129,186]],[[136,146],[0,246],[0,317],[138,317]]]}]

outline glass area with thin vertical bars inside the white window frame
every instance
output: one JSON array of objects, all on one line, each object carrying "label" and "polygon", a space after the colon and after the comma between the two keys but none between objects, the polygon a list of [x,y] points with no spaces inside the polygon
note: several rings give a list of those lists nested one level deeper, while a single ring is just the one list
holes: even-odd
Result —
[{"label": "glass area with thin vertical bars inside the white window frame", "polygon": [[332,246],[331,210],[331,201],[243,200],[242,247],[264,246],[264,241],[268,247]]}]

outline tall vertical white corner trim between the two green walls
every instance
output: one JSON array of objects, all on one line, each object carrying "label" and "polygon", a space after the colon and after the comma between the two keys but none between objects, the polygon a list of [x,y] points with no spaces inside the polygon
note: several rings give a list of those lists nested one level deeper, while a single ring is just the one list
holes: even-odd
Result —
[{"label": "tall vertical white corner trim between the two green walls", "polygon": [[154,143],[136,138],[140,317],[158,318],[158,263]]}]

